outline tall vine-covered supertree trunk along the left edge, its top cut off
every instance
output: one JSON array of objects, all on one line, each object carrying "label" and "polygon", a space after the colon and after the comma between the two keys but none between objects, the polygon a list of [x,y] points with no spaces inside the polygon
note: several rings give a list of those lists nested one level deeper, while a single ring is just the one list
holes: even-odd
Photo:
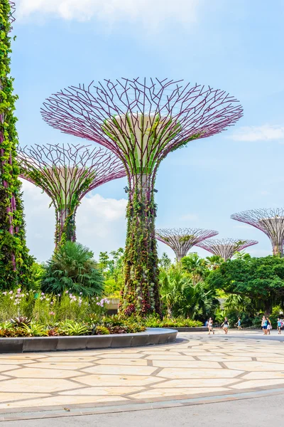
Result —
[{"label": "tall vine-covered supertree trunk along the left edge, its top cut off", "polygon": [[11,63],[11,5],[0,3],[0,288],[28,285],[33,257],[26,247],[21,181],[18,180],[15,102]]}]

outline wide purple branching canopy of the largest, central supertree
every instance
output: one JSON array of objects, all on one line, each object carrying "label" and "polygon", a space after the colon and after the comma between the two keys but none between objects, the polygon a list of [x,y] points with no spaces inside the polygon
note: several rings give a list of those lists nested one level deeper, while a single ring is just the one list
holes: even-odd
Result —
[{"label": "wide purple branching canopy of the largest, central supertree", "polygon": [[[44,102],[43,120],[61,132],[89,139],[111,149],[120,157],[128,174],[135,173],[133,165],[125,162],[135,149],[144,161],[158,164],[169,152],[191,139],[215,135],[234,125],[243,109],[234,97],[224,90],[202,85],[190,85],[182,80],[127,79],[104,80],[93,85],[70,86],[55,93]],[[141,127],[139,115],[147,116]],[[118,144],[103,129],[114,117],[121,117],[119,126],[125,144]],[[127,118],[128,117],[128,118]],[[155,128],[156,143],[151,144]],[[129,124],[131,122],[131,125]],[[129,126],[139,130],[147,143],[129,135]],[[172,135],[171,138],[168,135]]]}]

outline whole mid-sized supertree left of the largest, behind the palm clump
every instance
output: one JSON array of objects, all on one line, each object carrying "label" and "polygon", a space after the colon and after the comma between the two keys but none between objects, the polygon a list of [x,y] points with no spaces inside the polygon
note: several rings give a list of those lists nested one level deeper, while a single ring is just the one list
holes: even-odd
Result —
[{"label": "whole mid-sized supertree left of the largest, behind the palm clump", "polygon": [[126,175],[118,157],[102,147],[38,145],[18,148],[20,176],[43,189],[55,206],[55,245],[75,241],[75,214],[82,198]]}]

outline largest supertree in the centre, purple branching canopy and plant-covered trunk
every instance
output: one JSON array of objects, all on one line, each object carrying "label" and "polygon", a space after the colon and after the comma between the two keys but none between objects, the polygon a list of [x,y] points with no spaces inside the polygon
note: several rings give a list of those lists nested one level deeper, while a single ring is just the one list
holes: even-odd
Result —
[{"label": "largest supertree in the centre, purple branching canopy and plant-covered trunk", "polygon": [[121,310],[160,312],[157,169],[169,152],[233,125],[242,115],[241,105],[222,90],[182,80],[122,78],[62,90],[45,102],[42,115],[62,132],[111,149],[124,163],[129,205]]}]

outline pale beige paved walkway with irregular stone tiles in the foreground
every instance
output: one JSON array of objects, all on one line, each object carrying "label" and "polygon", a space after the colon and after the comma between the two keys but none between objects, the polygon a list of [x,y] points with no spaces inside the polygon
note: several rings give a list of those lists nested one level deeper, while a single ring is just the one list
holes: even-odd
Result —
[{"label": "pale beige paved walkway with irregular stone tiles in the foreground", "polygon": [[111,412],[284,391],[284,342],[278,336],[178,336],[174,344],[136,349],[1,354],[0,420],[11,412],[15,418],[26,411]]}]

